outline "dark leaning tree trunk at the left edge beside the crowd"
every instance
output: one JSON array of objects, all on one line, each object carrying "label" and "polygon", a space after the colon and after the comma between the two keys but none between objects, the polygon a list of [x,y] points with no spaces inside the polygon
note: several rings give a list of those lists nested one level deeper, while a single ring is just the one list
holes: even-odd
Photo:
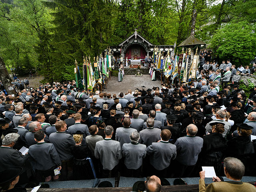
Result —
[{"label": "dark leaning tree trunk at the left edge beside the crowd", "polygon": [[2,81],[2,84],[4,85],[4,88],[6,90],[6,92],[8,94],[16,94],[16,91],[15,90],[9,90],[8,86],[9,85],[12,85],[11,82],[11,78],[10,78],[10,75],[6,69],[6,66],[4,64],[4,61],[2,60],[2,58],[0,58],[0,80]]}]

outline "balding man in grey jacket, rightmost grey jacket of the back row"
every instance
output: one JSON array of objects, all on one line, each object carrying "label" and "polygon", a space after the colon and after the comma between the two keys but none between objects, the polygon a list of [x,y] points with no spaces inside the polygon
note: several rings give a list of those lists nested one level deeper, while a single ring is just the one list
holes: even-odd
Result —
[{"label": "balding man in grey jacket, rightmost grey jacket of the back row", "polygon": [[188,125],[186,132],[186,136],[178,138],[175,142],[177,156],[174,177],[190,177],[203,147],[204,140],[195,136],[198,132],[196,125]]}]

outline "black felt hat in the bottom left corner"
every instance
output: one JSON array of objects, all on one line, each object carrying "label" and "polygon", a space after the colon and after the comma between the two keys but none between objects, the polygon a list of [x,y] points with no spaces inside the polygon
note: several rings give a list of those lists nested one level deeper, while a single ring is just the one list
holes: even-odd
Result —
[{"label": "black felt hat in the bottom left corner", "polygon": [[22,173],[22,167],[13,167],[13,168],[7,168],[4,171],[0,172],[0,175],[2,175],[0,184],[6,183],[8,181],[14,180],[17,176],[19,176]]}]

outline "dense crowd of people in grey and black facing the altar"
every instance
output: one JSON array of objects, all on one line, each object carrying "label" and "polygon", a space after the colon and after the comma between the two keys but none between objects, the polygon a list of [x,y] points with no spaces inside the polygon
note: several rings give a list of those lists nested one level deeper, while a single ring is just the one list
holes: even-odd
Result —
[{"label": "dense crowd of people in grey and black facing the altar", "polygon": [[[2,92],[0,170],[16,168],[20,183],[117,177],[118,172],[184,178],[199,176],[202,166],[224,175],[228,168],[222,162],[233,157],[252,176],[256,86],[247,97],[239,84],[229,84],[229,66],[212,73],[208,68],[188,84],[118,94],[89,92],[74,81],[23,89],[15,96]],[[28,152],[22,154],[23,147]],[[2,190],[13,180],[8,182],[0,184]]]}]

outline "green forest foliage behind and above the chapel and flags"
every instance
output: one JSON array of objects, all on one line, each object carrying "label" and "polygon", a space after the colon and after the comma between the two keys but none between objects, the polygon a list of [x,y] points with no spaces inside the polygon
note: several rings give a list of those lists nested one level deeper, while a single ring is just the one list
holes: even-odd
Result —
[{"label": "green forest foliage behind and above the chapel and flags", "polygon": [[255,0],[0,0],[0,57],[19,74],[67,80],[75,59],[82,64],[135,28],[153,44],[180,44],[196,9],[195,36],[218,58],[248,64],[256,56],[255,7]]}]

